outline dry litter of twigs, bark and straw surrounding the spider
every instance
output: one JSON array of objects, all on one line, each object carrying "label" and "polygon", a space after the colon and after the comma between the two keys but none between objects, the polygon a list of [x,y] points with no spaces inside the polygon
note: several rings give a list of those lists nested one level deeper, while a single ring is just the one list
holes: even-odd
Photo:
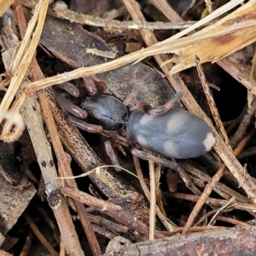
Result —
[{"label": "dry litter of twigs, bark and straw surrounding the spider", "polygon": [[[255,254],[256,1],[174,2],[0,4],[1,255]],[[139,160],[124,131],[70,125],[60,84],[122,101],[138,88],[130,109],[183,91],[175,107],[218,142],[192,160]]]}]

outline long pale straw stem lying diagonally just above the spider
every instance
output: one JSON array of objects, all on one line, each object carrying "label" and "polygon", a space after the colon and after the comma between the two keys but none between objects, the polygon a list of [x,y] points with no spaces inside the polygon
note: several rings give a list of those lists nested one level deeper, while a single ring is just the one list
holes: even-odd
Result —
[{"label": "long pale straw stem lying diagonally just above the spider", "polygon": [[[223,28],[218,29],[218,31],[212,31],[212,32],[207,32],[206,34],[201,34],[200,39],[204,40],[207,38],[218,37],[218,36],[224,35],[226,33],[237,32],[237,31],[241,31],[244,28],[254,27],[254,26],[255,26],[254,21],[247,21],[247,22],[244,22],[241,24],[236,24],[236,26],[223,27]],[[102,64],[95,65],[92,67],[80,67],[71,72],[61,73],[61,74],[52,76],[47,79],[42,79],[40,81],[33,82],[32,84],[29,84],[29,86],[27,86],[27,88],[25,90],[28,90],[28,91],[41,90],[41,89],[44,89],[51,85],[61,84],[61,83],[70,81],[72,79],[79,79],[82,77],[95,75],[97,73],[108,72],[110,70],[113,70],[114,68],[124,66],[125,64],[129,64],[131,62],[137,61],[139,59],[142,59],[142,58],[150,56],[150,55],[158,55],[161,53],[170,53],[174,50],[181,49],[183,47],[188,47],[189,45],[198,42],[198,39],[199,39],[198,35],[192,35],[187,38],[179,38],[179,39],[175,40],[174,42],[169,42],[169,43],[167,42],[167,43],[163,43],[161,45],[156,44],[157,41],[154,40],[154,44],[156,44],[156,45],[150,44],[152,46],[150,46],[146,49],[140,49],[134,53],[119,57],[118,59],[109,61],[107,63],[102,63]],[[151,43],[153,43],[153,41]],[[161,64],[162,63],[163,62],[161,61]],[[162,68],[164,68],[164,67],[162,67]],[[168,72],[169,71],[170,71],[170,69],[168,69]],[[256,95],[256,82],[245,83],[243,85],[245,85],[247,87],[247,89],[252,90],[253,94]]]}]

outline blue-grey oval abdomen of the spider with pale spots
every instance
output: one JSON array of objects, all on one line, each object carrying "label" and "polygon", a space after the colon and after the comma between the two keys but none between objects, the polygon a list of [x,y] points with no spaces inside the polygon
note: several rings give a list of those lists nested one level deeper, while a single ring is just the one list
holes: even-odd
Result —
[{"label": "blue-grey oval abdomen of the spider with pale spots", "polygon": [[203,119],[179,108],[157,116],[131,113],[127,136],[143,148],[177,159],[206,154],[216,142]]}]

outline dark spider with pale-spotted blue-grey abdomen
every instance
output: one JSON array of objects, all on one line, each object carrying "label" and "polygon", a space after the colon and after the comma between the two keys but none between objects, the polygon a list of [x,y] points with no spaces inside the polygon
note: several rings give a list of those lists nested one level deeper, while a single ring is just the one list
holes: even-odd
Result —
[{"label": "dark spider with pale-spotted blue-grey abdomen", "polygon": [[[65,86],[65,90],[73,96],[79,95],[73,84]],[[126,106],[137,96],[138,91],[139,88],[135,86],[125,103],[114,96],[97,94],[82,97],[77,100],[78,105],[60,93],[57,93],[56,100],[62,108],[73,114],[67,117],[70,124],[89,132],[119,131],[125,127],[126,136],[132,142],[167,158],[194,158],[211,150],[216,138],[207,123],[182,108],[172,108],[183,93],[177,93],[159,108],[141,104],[143,109],[129,113]],[[96,120],[97,125],[83,120],[88,116]]]}]

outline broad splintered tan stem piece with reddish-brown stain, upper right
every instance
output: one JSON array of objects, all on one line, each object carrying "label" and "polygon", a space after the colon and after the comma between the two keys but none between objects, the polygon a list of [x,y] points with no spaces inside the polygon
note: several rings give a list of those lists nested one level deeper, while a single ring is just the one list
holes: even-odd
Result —
[{"label": "broad splintered tan stem piece with reddish-brown stain, upper right", "polygon": [[[207,26],[199,32],[195,32],[193,36],[198,37],[195,44],[191,44],[190,47],[177,48],[177,50],[172,51],[172,53],[176,54],[172,58],[172,61],[177,63],[177,65],[172,68],[171,73],[177,73],[188,67],[195,66],[195,55],[199,56],[201,63],[206,61],[215,62],[223,59],[227,55],[231,55],[238,49],[252,44],[255,41],[255,29],[245,28],[242,31],[236,32],[231,32],[231,30],[238,24],[242,24],[243,22],[247,23],[247,21],[251,22],[252,17],[247,14],[254,13],[255,11],[255,0],[249,1],[239,9],[233,11],[230,15],[226,15],[223,19],[218,20],[215,24]],[[230,32],[208,39],[201,38],[203,35],[222,30],[224,27],[230,27]]]}]

